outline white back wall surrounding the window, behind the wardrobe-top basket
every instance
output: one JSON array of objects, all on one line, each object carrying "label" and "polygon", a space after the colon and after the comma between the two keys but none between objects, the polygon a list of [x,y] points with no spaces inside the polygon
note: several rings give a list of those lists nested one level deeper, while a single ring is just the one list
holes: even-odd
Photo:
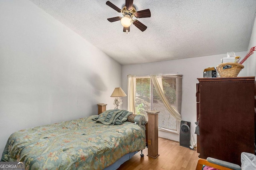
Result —
[{"label": "white back wall surrounding the window, behind the wardrobe-top basket", "polygon": [[[235,51],[235,50],[234,50]],[[237,56],[245,56],[246,51],[236,53]],[[182,78],[182,120],[191,122],[191,130],[194,138],[196,125],[196,83],[197,78],[202,78],[203,71],[208,67],[215,67],[220,64],[220,59],[226,54],[196,57],[188,59],[161,61],[146,64],[134,64],[122,66],[122,89],[127,93],[127,75],[150,75],[150,74],[180,74]],[[245,63],[246,64],[246,63]],[[246,65],[244,64],[245,68]],[[238,76],[246,76],[247,71],[242,69]],[[127,97],[123,97],[123,109],[127,109]],[[159,131],[159,136],[179,141],[179,135]]]}]

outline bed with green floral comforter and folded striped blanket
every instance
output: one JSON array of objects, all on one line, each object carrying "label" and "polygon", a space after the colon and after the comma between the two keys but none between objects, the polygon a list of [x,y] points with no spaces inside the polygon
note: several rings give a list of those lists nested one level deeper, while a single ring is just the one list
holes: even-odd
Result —
[{"label": "bed with green floral comforter and folded striped blanket", "polygon": [[116,169],[146,147],[145,124],[144,116],[113,109],[27,128],[8,138],[1,161],[25,162],[28,170]]}]

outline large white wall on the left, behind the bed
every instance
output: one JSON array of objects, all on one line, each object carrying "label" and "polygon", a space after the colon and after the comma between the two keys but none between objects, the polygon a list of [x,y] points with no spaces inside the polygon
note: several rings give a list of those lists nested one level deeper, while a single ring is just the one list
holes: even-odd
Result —
[{"label": "large white wall on the left, behind the bed", "polygon": [[0,156],[16,130],[111,109],[121,67],[28,0],[1,0]]}]

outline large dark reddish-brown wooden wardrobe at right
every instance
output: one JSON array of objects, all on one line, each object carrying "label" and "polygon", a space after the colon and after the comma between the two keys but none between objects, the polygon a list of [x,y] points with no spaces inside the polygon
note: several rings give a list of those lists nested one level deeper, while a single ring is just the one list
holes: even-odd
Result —
[{"label": "large dark reddish-brown wooden wardrobe at right", "polygon": [[241,165],[242,152],[255,153],[255,77],[198,78],[198,81],[199,157]]}]

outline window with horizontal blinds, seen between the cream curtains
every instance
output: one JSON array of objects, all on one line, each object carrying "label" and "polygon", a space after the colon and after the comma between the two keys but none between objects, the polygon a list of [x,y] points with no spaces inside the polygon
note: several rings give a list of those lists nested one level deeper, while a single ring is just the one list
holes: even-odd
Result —
[{"label": "window with horizontal blinds, seen between the cream curtains", "polygon": [[[182,75],[163,75],[162,86],[170,105],[181,113]],[[144,115],[147,119],[146,111],[160,111],[158,128],[179,133],[180,122],[166,109],[149,76],[136,77],[135,107],[136,114]]]}]

